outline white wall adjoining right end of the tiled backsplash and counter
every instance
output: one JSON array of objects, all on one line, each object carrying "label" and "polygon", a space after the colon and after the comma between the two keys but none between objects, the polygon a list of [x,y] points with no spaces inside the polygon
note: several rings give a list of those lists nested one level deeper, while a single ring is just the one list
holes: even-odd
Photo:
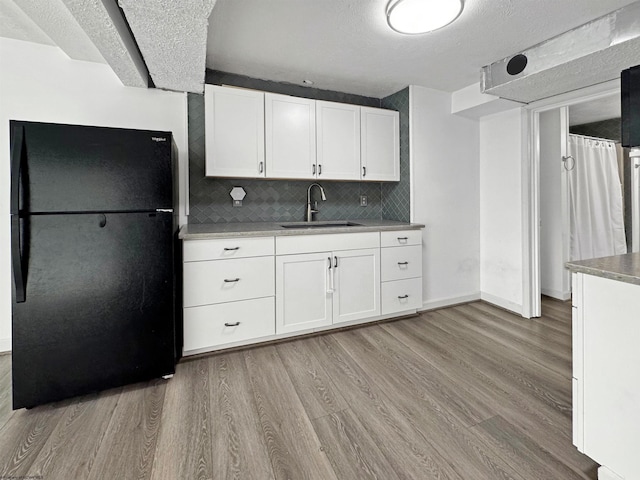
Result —
[{"label": "white wall adjoining right end of the tiled backsplash and counter", "polygon": [[411,86],[412,221],[424,223],[424,308],[479,298],[478,122],[451,94]]}]

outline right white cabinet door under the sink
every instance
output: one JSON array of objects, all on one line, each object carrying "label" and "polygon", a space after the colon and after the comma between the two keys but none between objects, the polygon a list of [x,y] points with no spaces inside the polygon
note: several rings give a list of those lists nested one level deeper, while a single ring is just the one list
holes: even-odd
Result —
[{"label": "right white cabinet door under the sink", "polygon": [[380,249],[333,252],[333,323],[380,315]]}]

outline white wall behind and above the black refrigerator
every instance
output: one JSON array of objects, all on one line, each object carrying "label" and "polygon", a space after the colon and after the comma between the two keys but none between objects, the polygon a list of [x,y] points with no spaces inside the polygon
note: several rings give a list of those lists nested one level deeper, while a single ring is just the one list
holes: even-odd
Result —
[{"label": "white wall behind and above the black refrigerator", "polygon": [[[0,38],[0,351],[11,348],[9,120],[171,131],[180,185],[188,166],[186,94],[124,87],[104,64],[69,59],[57,47]],[[186,223],[186,188],[180,221]]]}]

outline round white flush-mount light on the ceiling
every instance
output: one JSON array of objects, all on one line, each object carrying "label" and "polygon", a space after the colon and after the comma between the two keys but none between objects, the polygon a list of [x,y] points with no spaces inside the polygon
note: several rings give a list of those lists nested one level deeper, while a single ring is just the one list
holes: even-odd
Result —
[{"label": "round white flush-mount light on the ceiling", "polygon": [[450,24],[462,12],[462,0],[391,0],[387,22],[396,32],[427,33]]}]

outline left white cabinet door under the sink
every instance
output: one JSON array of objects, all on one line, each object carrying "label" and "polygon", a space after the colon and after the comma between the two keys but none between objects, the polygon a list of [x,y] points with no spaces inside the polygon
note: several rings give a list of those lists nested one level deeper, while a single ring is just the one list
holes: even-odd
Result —
[{"label": "left white cabinet door under the sink", "polygon": [[276,257],[276,333],[331,325],[331,254]]}]

